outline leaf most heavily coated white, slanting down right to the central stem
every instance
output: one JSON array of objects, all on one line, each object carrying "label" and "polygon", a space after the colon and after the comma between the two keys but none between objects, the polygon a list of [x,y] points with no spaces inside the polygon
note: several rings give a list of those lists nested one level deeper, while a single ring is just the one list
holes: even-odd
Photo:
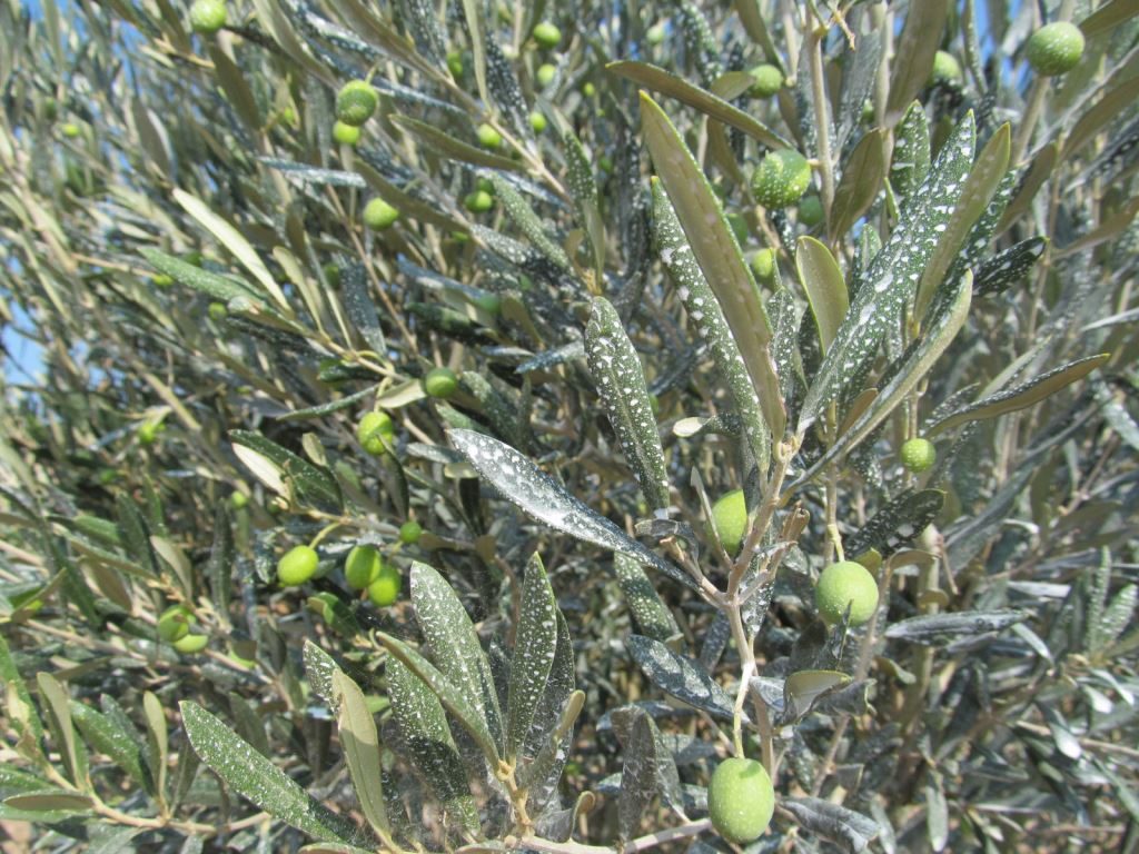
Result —
[{"label": "leaf most heavily coated white, slanting down right to the central stem", "polygon": [[696,582],[683,570],[591,510],[509,445],[473,430],[451,429],[448,435],[475,470],[527,515],[579,540],[624,552],[673,581],[696,589]]}]

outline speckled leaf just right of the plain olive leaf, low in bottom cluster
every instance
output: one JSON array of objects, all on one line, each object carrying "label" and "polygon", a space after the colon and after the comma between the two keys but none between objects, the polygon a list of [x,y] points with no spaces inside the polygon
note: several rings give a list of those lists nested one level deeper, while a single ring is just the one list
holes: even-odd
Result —
[{"label": "speckled leaf just right of the plain olive leaf, low in bottom cluster", "polygon": [[477,831],[478,811],[439,697],[398,658],[388,660],[385,673],[392,717],[411,754],[407,758],[446,811],[468,831]]}]

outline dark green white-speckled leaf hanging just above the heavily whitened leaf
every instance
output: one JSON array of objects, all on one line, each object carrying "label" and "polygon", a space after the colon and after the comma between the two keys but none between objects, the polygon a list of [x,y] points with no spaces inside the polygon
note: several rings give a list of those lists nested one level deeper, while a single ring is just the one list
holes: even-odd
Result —
[{"label": "dark green white-speckled leaf hanging just above the heavily whitened leaf", "polygon": [[585,327],[585,356],[621,450],[654,509],[669,507],[669,473],[649,404],[645,371],[616,309],[593,299]]}]

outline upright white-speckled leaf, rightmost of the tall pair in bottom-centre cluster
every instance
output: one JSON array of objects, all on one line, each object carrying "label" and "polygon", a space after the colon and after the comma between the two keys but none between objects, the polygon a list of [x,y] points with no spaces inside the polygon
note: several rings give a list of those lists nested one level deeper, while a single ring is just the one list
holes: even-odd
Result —
[{"label": "upright white-speckled leaf, rightmost of the tall pair in bottom-centre cluster", "polygon": [[558,643],[558,606],[542,559],[535,552],[526,565],[510,660],[510,693],[506,761],[514,762],[530,732],[534,712],[546,691]]}]

